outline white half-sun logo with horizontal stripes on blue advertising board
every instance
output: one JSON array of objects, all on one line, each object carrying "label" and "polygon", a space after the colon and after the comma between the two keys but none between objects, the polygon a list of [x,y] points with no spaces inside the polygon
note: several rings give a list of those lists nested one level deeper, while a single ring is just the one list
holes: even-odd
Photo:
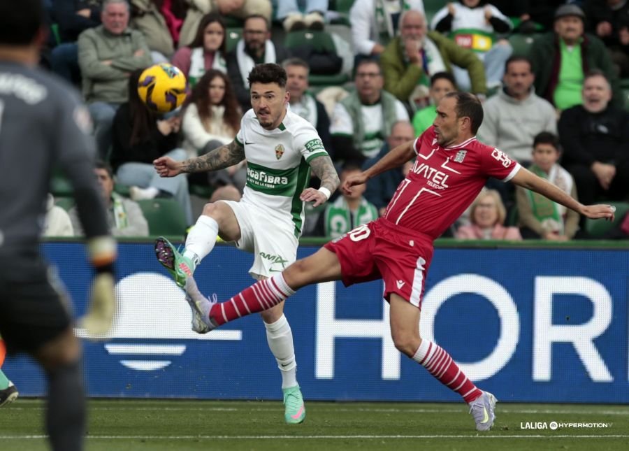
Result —
[{"label": "white half-sun logo with horizontal stripes on blue advertising board", "polygon": [[[172,363],[173,357],[186,351],[187,340],[242,340],[242,331],[212,331],[196,334],[190,329],[191,312],[185,294],[171,278],[158,273],[134,273],[116,285],[118,311],[106,343],[110,355],[120,356],[120,363],[138,371],[154,371]],[[92,338],[85,329],[75,335]],[[144,343],[138,343],[138,340]],[[152,343],[152,341],[175,343]],[[126,357],[126,358],[125,358]]]}]

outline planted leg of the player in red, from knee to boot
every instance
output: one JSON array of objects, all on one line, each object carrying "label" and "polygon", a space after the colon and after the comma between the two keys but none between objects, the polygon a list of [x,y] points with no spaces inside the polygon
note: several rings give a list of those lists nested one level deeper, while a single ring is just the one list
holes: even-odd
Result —
[{"label": "planted leg of the player in red, from knee to boot", "polygon": [[419,308],[395,293],[391,294],[390,304],[391,336],[396,348],[463,397],[470,406],[477,430],[491,429],[496,417],[493,394],[478,389],[443,348],[419,336]]}]

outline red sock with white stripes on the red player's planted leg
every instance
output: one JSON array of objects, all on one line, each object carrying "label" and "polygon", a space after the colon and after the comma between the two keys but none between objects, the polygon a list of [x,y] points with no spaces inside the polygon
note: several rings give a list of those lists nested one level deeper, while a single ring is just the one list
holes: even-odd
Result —
[{"label": "red sock with white stripes on the red player's planted leg", "polygon": [[422,340],[413,360],[424,366],[443,385],[454,390],[466,403],[470,403],[483,393],[469,380],[452,357],[441,346],[428,340]]}]

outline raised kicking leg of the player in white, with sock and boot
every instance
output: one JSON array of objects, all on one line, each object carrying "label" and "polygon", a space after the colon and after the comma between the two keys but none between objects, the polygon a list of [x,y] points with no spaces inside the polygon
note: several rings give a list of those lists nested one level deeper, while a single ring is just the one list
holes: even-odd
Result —
[{"label": "raised kicking leg of the player in white, with sock and boot", "polygon": [[155,241],[155,255],[159,263],[173,275],[177,285],[183,287],[186,278],[212,252],[219,234],[225,241],[236,241],[240,238],[236,215],[224,202],[206,203],[203,214],[190,229],[183,252],[179,252],[170,241],[160,236]]}]

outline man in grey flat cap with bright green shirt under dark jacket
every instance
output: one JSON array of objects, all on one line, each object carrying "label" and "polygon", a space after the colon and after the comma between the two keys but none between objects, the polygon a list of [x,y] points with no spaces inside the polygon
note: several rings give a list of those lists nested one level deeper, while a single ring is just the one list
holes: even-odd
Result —
[{"label": "man in grey flat cap with bright green shirt under dark jacket", "polygon": [[555,13],[554,32],[535,40],[530,48],[535,92],[558,110],[581,103],[584,76],[592,69],[605,73],[616,103],[622,105],[622,92],[609,52],[599,38],[584,34],[584,20],[579,6],[560,6]]}]

